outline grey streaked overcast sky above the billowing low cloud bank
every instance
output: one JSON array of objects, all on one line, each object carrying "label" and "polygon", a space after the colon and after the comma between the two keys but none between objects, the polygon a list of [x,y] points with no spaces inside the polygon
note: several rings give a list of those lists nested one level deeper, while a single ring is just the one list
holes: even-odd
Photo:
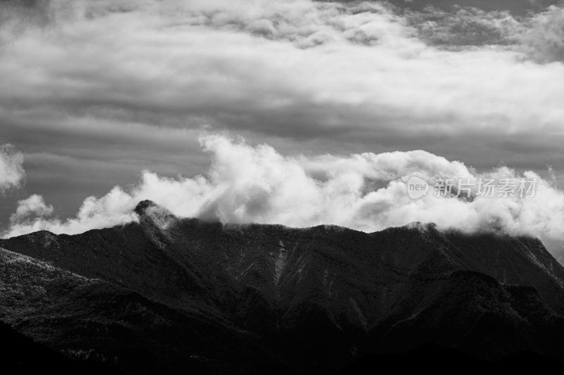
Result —
[{"label": "grey streaked overcast sky above the billowing low cloud bank", "polygon": [[143,170],[207,176],[204,133],[564,183],[564,5],[391,3],[0,1],[0,144],[25,170],[0,226],[33,194],[62,220]]}]

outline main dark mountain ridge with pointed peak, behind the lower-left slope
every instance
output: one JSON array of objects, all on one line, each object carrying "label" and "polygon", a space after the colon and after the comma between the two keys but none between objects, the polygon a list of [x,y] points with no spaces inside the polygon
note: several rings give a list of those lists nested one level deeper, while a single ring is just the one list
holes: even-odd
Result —
[{"label": "main dark mountain ridge with pointed peak, behind the lower-left slope", "polygon": [[[202,319],[231,340],[248,342],[249,352],[264,346],[271,363],[292,371],[328,373],[362,352],[400,353],[427,343],[484,360],[522,351],[558,357],[562,348],[564,268],[538,239],[440,231],[432,224],[370,234],[335,226],[223,225],[179,219],[150,201],[135,212],[137,223],[73,236],[36,232],[0,240],[0,248],[114,288],[93,294],[90,314],[107,315],[101,306],[104,298],[115,300],[112,293],[138,301],[128,294],[137,293],[142,302],[126,306],[154,310],[147,307],[153,301],[186,315],[178,319],[189,325],[201,326],[193,319]],[[49,308],[73,305],[60,298]],[[33,301],[23,296],[29,311]],[[39,317],[30,312],[27,323],[16,322],[18,313],[4,311],[0,319],[37,334],[25,324],[40,326]],[[117,342],[109,347],[124,350]],[[44,343],[56,346],[54,337]],[[203,357],[213,360],[202,368],[223,368],[221,356],[209,350]]]}]

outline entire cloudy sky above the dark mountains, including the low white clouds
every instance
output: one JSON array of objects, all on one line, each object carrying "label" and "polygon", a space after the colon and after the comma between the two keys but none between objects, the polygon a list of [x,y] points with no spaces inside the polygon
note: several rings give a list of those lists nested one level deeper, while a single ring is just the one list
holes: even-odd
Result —
[{"label": "entire cloudy sky above the dark mountains, including the low white clouds", "polygon": [[[564,254],[564,4],[0,1],[0,231],[176,215],[532,234]],[[410,174],[538,177],[411,201]],[[133,207],[132,207],[133,206]]]}]

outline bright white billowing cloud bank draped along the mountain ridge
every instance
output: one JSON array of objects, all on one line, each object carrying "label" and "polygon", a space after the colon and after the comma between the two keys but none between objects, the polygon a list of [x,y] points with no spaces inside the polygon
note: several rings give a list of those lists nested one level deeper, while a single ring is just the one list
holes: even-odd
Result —
[{"label": "bright white billowing cloud bank draped along the mountain ridge", "polygon": [[[137,186],[116,186],[105,196],[87,198],[76,217],[67,220],[30,220],[27,215],[31,212],[40,216],[52,212],[40,197],[32,196],[20,201],[4,236],[39,229],[78,233],[125,224],[137,220],[135,205],[150,199],[180,217],[224,223],[338,224],[376,231],[420,221],[463,231],[496,230],[564,242],[564,193],[534,172],[517,173],[502,166],[478,173],[464,163],[426,151],[291,157],[266,144],[251,146],[221,134],[203,134],[200,143],[211,158],[205,175],[171,179],[146,171]],[[407,194],[412,175],[429,184],[436,177],[538,182],[534,196],[474,194],[472,199],[461,199],[428,194],[412,200]]]}]

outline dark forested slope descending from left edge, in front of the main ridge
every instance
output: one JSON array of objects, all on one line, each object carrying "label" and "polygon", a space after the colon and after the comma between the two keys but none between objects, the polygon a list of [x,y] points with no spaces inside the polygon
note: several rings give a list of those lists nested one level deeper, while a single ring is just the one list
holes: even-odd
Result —
[{"label": "dark forested slope descending from left edge, in front of the main ridge", "polygon": [[251,336],[0,249],[0,319],[75,360],[125,373],[277,373],[285,365]]}]

